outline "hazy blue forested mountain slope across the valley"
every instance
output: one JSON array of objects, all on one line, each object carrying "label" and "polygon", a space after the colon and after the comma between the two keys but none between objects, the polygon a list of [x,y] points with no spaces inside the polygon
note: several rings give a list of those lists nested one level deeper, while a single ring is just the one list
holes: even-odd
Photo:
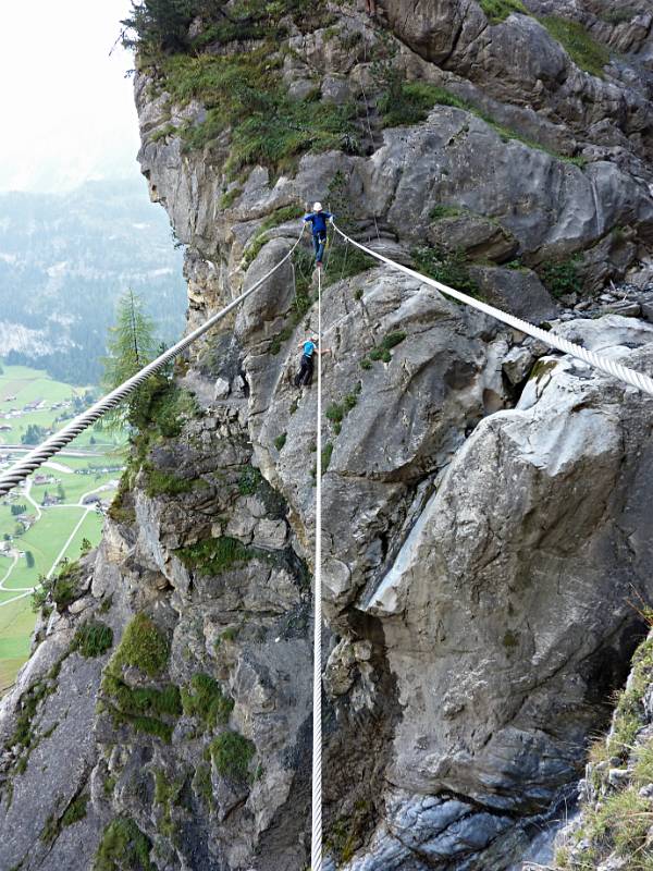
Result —
[{"label": "hazy blue forested mountain slope across the valley", "polygon": [[97,382],[118,296],[133,287],[162,339],[183,329],[182,255],[140,179],[71,194],[0,194],[0,347],[75,383]]}]

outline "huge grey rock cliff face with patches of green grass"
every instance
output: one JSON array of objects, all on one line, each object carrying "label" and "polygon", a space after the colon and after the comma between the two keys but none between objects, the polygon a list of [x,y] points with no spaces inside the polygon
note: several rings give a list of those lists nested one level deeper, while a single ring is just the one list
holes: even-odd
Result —
[{"label": "huge grey rock cliff face with patches of green grass", "polygon": [[[205,11],[193,57],[141,56],[189,327],[320,198],[394,259],[653,371],[643,0],[273,5],[241,41]],[[644,633],[652,401],[336,240],[325,284],[330,867],[502,871]],[[292,379],[315,290],[305,250],[151,400],[0,709],[3,868],[306,868],[316,397]]]}]

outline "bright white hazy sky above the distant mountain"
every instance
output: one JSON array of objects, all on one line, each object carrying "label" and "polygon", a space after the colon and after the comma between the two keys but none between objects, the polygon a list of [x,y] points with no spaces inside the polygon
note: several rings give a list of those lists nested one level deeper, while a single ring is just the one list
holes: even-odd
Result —
[{"label": "bright white hazy sky above the distant mountain", "polygon": [[0,191],[136,175],[130,0],[0,0]]}]

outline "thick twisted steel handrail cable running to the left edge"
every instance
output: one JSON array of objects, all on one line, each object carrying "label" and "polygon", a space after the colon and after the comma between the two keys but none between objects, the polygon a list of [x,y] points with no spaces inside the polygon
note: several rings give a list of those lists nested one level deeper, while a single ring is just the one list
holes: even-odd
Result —
[{"label": "thick twisted steel handrail cable running to the left edge", "polygon": [[61,451],[61,449],[69,444],[69,442],[72,442],[76,436],[78,436],[85,429],[88,429],[88,427],[95,424],[95,421],[98,420],[103,414],[109,412],[111,408],[114,408],[120,402],[126,398],[126,396],[139,388],[150,375],[155,375],[156,372],[160,371],[167,363],[170,363],[170,360],[178,356],[189,345],[208,332],[211,327],[218,323],[218,321],[222,320],[231,311],[237,308],[241,303],[247,299],[247,297],[257,291],[262,284],[264,284],[266,281],[268,281],[268,279],[274,272],[276,272],[278,269],[280,269],[287,260],[289,260],[296,247],[299,245],[299,242],[301,241],[305,229],[306,224],[303,224],[301,232],[299,233],[299,236],[291,250],[276,263],[276,266],[272,267],[269,272],[266,272],[261,279],[252,284],[251,287],[241,294],[241,296],[225,306],[225,308],[223,308],[221,311],[218,311],[215,315],[210,317],[205,323],[201,324],[201,327],[198,327],[197,330],[188,333],[188,335],[182,339],[181,342],[177,342],[176,345],[173,345],[171,348],[165,351],[163,354],[157,357],[156,360],[152,360],[152,363],[150,363],[135,376],[130,378],[120,387],[115,388],[115,390],[112,390],[111,393],[108,393],[101,400],[98,400],[95,405],[91,405],[86,412],[83,412],[81,415],[71,420],[66,427],[61,429],[59,432],[56,432],[53,436],[50,436],[47,441],[45,441],[38,447],[35,447],[22,459],[15,463],[10,469],[0,475],[0,496],[8,493],[12,488],[27,478],[27,476],[39,466],[42,466],[46,461]]}]

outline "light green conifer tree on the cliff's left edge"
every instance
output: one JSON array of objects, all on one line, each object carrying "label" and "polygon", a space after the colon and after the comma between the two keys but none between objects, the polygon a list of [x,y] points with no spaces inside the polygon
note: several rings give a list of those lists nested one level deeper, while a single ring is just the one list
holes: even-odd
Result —
[{"label": "light green conifer tree on the cliff's left edge", "polygon": [[[122,384],[155,359],[155,326],[144,311],[143,300],[132,290],[119,299],[118,319],[115,327],[110,329],[107,348],[109,354],[102,360],[102,387],[108,391]],[[146,383],[118,408],[104,415],[104,428],[121,429],[125,424],[137,426],[139,410],[148,395]]]}]

